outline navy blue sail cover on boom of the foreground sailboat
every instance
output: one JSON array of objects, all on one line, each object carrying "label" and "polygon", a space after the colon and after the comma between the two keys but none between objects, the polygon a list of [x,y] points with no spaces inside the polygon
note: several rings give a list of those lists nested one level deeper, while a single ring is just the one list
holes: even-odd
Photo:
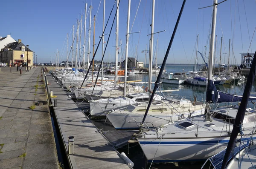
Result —
[{"label": "navy blue sail cover on boom of the foreground sailboat", "polygon": [[[239,102],[242,100],[240,95],[232,95],[218,91],[212,82],[208,79],[207,91],[206,91],[206,101],[211,101],[213,103],[223,103],[223,102]],[[249,100],[256,100],[255,96],[250,96]]]}]

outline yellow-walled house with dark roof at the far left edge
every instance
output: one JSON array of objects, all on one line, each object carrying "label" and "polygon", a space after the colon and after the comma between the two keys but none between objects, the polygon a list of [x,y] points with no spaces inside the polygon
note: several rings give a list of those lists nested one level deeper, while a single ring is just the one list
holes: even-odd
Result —
[{"label": "yellow-walled house with dark roof at the far left edge", "polygon": [[[21,54],[23,55],[22,59]],[[0,62],[2,63],[12,63],[15,65],[20,64],[21,60],[23,63],[28,63],[29,66],[33,65],[33,51],[27,49],[26,45],[24,45],[20,39],[17,42],[7,44],[0,51]]]}]

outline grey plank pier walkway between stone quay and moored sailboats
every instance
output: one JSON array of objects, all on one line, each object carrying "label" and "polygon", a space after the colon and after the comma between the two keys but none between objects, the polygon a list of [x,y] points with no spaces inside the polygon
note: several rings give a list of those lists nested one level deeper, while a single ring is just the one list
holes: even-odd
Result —
[{"label": "grey plank pier walkway between stone quay and moored sailboats", "polygon": [[67,96],[52,76],[46,72],[48,90],[57,99],[55,115],[61,130],[61,137],[68,152],[68,137],[74,136],[74,154],[67,155],[72,169],[130,169],[125,161],[98,132],[96,126],[87,119],[79,107]]}]

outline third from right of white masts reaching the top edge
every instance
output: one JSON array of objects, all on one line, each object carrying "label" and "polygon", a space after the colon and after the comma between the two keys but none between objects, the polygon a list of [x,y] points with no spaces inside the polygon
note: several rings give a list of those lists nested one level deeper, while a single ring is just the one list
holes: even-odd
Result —
[{"label": "third from right of white masts reaching the top edge", "polygon": [[128,0],[128,16],[127,16],[126,46],[125,46],[125,83],[124,83],[124,96],[126,96],[126,82],[127,82],[127,62],[128,62],[128,44],[129,44],[129,28],[130,28],[130,10],[131,10],[131,0]]}]

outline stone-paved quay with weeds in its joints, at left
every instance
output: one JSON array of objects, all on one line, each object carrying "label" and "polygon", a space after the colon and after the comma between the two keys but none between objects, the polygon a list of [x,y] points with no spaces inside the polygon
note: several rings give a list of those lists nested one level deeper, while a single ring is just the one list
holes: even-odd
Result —
[{"label": "stone-paved quay with weeds in its joints, at left", "polygon": [[59,168],[41,74],[41,67],[21,75],[0,69],[0,169]]}]

